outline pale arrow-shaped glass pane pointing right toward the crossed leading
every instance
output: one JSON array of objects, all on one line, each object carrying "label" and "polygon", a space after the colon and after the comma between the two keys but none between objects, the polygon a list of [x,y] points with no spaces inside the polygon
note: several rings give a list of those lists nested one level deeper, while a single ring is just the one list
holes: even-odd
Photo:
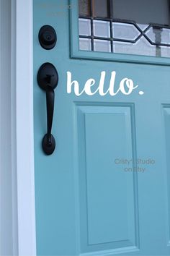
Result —
[{"label": "pale arrow-shaped glass pane pointing right toward the crossed leading", "polygon": [[113,22],[113,38],[135,40],[140,35],[139,30],[132,24]]}]

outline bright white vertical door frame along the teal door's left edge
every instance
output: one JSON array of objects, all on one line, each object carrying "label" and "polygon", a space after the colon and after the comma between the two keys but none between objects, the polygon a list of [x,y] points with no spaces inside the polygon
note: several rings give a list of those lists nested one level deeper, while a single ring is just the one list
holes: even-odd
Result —
[{"label": "bright white vertical door frame along the teal door's left edge", "polygon": [[[15,106],[18,254],[36,255],[35,173],[33,132],[33,12],[32,0],[11,0],[15,45],[13,59]],[[15,33],[14,33],[15,31]]]}]

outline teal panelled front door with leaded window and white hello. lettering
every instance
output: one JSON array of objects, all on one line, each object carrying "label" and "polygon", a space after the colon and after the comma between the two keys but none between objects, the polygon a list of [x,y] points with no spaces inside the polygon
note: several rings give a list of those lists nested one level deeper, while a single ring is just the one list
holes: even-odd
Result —
[{"label": "teal panelled front door with leaded window and white hello. lettering", "polygon": [[33,2],[37,255],[170,255],[169,2]]}]

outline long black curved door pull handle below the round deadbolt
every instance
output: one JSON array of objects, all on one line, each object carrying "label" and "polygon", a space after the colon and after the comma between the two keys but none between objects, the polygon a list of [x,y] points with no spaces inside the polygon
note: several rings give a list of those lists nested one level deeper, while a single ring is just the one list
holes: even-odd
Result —
[{"label": "long black curved door pull handle below the round deadbolt", "polygon": [[55,150],[55,138],[51,134],[53,124],[53,111],[55,94],[54,89],[58,85],[58,72],[51,63],[44,63],[37,72],[37,83],[46,92],[47,102],[47,130],[42,139],[42,150],[46,155],[53,154]]}]

